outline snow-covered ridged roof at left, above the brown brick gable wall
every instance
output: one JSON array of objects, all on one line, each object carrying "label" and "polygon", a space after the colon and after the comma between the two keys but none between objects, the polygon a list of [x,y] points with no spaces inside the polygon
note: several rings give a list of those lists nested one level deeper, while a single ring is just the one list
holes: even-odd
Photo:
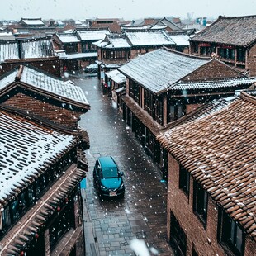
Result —
[{"label": "snow-covered ridged roof at left, above the brown brick gable wall", "polygon": [[[74,85],[70,80],[64,81],[61,78],[54,78],[46,73],[40,72],[37,69],[31,69],[26,66],[20,68],[20,78],[18,83],[25,83],[31,87],[39,88],[49,94],[53,94],[58,97],[60,101],[71,100],[73,104],[89,105],[88,100],[82,90],[82,88]],[[17,69],[12,73],[0,79],[0,92],[3,88],[6,88],[10,83],[14,83],[17,80]],[[66,100],[65,100],[66,99]]]}]

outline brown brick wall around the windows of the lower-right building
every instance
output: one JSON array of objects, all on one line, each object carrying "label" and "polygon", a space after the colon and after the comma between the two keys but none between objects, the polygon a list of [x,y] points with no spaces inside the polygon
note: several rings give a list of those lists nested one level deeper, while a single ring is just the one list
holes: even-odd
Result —
[{"label": "brown brick wall around the windows of the lower-right building", "polygon": [[[192,247],[197,250],[200,255],[224,256],[225,251],[217,242],[217,223],[218,211],[216,202],[208,197],[207,223],[206,229],[197,216],[193,213],[193,181],[190,179],[189,197],[178,188],[179,182],[179,165],[171,154],[168,154],[168,197],[167,197],[167,235],[170,239],[170,216],[171,211],[177,218],[179,225],[187,235],[187,255],[192,255]],[[246,241],[245,254],[253,255],[255,251],[255,242]]]}]

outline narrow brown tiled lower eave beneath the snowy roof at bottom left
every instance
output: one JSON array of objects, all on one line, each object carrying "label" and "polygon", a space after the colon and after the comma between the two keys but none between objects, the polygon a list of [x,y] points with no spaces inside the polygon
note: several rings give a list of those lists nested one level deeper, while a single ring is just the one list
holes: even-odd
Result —
[{"label": "narrow brown tiled lower eave beneath the snowy roof at bottom left", "polygon": [[40,203],[37,203],[28,213],[19,220],[19,225],[15,225],[2,239],[0,247],[1,255],[17,255],[24,250],[27,244],[35,239],[36,234],[40,234],[45,229],[45,223],[49,221],[57,207],[62,208],[74,187],[85,177],[82,169],[71,165],[61,178],[51,187]]}]

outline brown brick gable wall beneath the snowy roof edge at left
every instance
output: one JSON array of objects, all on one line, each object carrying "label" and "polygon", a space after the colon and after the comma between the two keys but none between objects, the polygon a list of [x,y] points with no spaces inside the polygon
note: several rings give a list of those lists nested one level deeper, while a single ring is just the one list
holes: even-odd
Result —
[{"label": "brown brick gable wall beneath the snowy roof edge at left", "polygon": [[50,102],[40,101],[21,92],[7,99],[3,104],[23,111],[29,111],[31,114],[71,128],[77,127],[78,117],[82,114],[55,106],[50,104]]}]

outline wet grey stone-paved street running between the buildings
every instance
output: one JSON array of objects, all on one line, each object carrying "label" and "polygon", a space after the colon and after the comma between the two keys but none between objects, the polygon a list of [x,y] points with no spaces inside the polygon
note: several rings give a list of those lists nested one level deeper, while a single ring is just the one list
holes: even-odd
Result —
[{"label": "wet grey stone-paved street running between the buildings", "polygon": [[[88,130],[86,152],[89,171],[82,189],[86,255],[173,255],[166,242],[166,183],[159,168],[135,139],[116,103],[103,96],[96,77],[80,77],[75,83],[88,97],[91,110],[79,125]],[[92,169],[100,155],[111,155],[124,172],[123,199],[100,200],[93,187]],[[143,241],[149,254],[130,244]],[[148,250],[147,249],[147,250]]]}]

